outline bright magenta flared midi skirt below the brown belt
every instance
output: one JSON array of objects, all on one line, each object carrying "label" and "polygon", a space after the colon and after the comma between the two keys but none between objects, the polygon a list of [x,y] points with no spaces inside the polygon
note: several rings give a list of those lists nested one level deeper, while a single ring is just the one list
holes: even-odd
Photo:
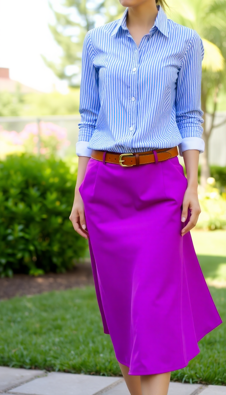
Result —
[{"label": "bright magenta flared midi skirt below the brown belt", "polygon": [[133,167],[91,158],[79,188],[104,333],[132,375],[185,367],[222,323],[190,232],[181,236],[186,187],[175,157]]}]

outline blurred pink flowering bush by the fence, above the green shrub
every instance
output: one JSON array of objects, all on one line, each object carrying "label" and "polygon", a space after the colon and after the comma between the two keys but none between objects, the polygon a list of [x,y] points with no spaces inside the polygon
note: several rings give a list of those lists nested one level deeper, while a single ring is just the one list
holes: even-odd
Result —
[{"label": "blurred pink flowering bush by the fence, above the green shrub", "polygon": [[[15,151],[29,152],[49,156],[60,148],[68,147],[66,128],[52,122],[32,122],[25,126],[22,132],[0,130],[0,140],[7,147],[15,147]],[[8,148],[9,151],[11,151]],[[7,151],[7,149],[6,149]]]}]

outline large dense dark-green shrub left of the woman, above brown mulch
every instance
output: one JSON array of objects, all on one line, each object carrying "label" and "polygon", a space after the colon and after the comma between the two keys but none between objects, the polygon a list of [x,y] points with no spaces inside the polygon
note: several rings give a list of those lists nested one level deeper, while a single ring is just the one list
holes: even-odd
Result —
[{"label": "large dense dark-green shrub left of the woman, above brown mulch", "polygon": [[87,241],[69,220],[76,168],[55,158],[0,161],[0,276],[63,272],[84,256]]}]

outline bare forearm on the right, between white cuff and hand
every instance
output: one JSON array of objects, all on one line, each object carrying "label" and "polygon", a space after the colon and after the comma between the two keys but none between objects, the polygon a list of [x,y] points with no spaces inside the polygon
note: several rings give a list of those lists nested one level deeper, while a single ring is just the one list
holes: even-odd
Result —
[{"label": "bare forearm on the right, between white cuff and hand", "polygon": [[187,173],[188,188],[198,188],[199,151],[189,149],[183,152],[184,164]]}]

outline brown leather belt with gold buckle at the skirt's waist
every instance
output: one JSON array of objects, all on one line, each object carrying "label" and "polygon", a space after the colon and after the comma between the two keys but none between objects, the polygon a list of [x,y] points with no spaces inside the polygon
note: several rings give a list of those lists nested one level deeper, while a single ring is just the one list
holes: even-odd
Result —
[{"label": "brown leather belt with gold buckle at the skirt's waist", "polygon": [[146,152],[133,152],[120,154],[118,152],[108,152],[101,150],[92,150],[91,158],[99,160],[105,164],[116,163],[117,165],[127,166],[139,166],[145,163],[158,163],[163,162],[170,158],[174,158],[178,155],[177,146],[173,148],[157,149]]}]

